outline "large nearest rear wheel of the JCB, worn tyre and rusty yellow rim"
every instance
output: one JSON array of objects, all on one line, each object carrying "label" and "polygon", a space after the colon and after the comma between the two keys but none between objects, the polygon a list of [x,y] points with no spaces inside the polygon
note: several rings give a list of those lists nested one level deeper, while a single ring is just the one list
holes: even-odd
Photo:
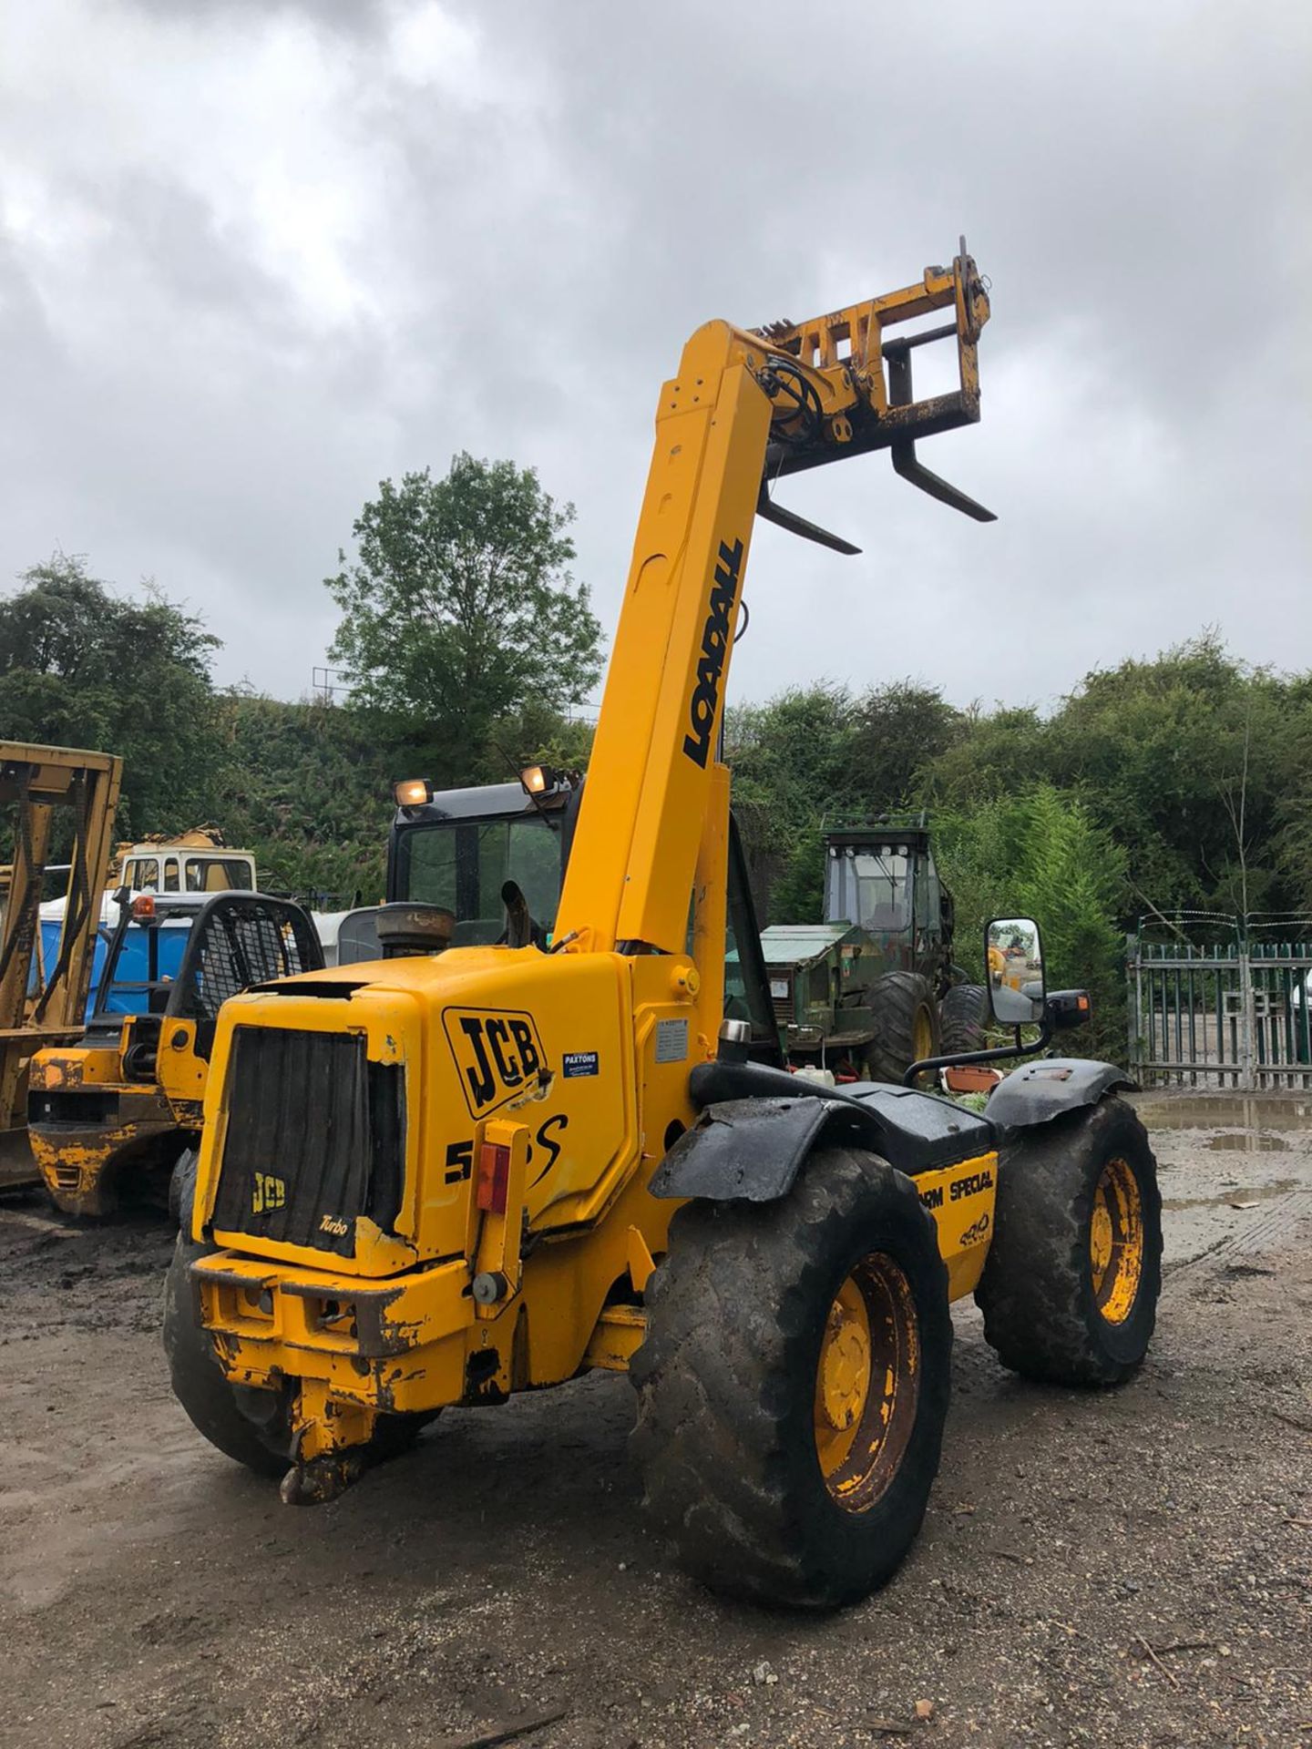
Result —
[{"label": "large nearest rear wheel of the JCB, worn tyre and rusty yellow rim", "polygon": [[630,1378],[644,1504],[714,1592],[833,1609],[911,1546],[939,1462],[952,1315],[934,1223],[826,1147],[773,1203],[687,1203]]}]

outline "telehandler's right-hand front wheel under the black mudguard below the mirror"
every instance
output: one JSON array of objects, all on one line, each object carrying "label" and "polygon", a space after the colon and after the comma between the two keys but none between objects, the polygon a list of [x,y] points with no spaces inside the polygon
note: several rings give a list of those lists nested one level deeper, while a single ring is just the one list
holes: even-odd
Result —
[{"label": "telehandler's right-hand front wheel under the black mudguard below the mirror", "polygon": [[1128,1378],[1162,1289],[1162,1195],[1135,1111],[1104,1098],[1022,1133],[995,1219],[976,1300],[999,1361],[1053,1385]]}]

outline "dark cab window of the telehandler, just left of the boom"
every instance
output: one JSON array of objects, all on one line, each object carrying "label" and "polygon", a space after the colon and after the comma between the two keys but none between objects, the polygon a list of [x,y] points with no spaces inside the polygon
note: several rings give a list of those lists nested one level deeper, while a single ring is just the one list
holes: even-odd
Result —
[{"label": "dark cab window of the telehandler, just left of the boom", "polygon": [[455,911],[451,944],[493,943],[506,929],[500,890],[516,881],[534,922],[551,930],[560,904],[560,820],[439,820],[411,826],[397,845],[397,899]]}]

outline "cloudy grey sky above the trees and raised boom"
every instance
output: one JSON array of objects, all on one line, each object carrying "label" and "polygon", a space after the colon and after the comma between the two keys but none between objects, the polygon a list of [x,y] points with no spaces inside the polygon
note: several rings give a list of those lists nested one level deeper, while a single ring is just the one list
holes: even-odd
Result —
[{"label": "cloudy grey sky above the trees and raised boom", "polygon": [[967,234],[983,422],[757,525],[733,693],[1046,703],[1218,624],[1312,666],[1312,7],[42,0],[0,12],[0,588],[156,577],[310,686],[376,481],[513,456],[614,624],[659,383]]}]

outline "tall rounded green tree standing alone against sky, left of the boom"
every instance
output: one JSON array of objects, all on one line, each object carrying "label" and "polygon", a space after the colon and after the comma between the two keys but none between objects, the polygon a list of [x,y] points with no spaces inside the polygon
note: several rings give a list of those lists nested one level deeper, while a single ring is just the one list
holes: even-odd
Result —
[{"label": "tall rounded green tree standing alone against sky, left of the boom", "polygon": [[436,782],[500,771],[495,743],[520,742],[525,714],[595,686],[600,626],[569,572],[572,521],[534,469],[464,453],[444,479],[381,481],[357,518],[355,563],[343,553],[325,579],[343,610],[331,656],[355,708]]}]

